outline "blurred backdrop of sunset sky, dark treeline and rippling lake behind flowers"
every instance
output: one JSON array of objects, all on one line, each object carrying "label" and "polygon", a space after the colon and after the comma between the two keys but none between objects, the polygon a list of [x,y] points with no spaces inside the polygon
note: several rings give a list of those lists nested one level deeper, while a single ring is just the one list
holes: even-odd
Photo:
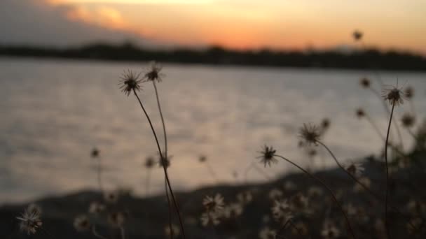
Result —
[{"label": "blurred backdrop of sunset sky, dark treeline and rippling lake behind flowers", "polygon": [[[378,154],[383,140],[355,110],[383,134],[387,113],[359,79],[414,87],[413,108],[397,108],[395,124],[411,110],[424,117],[425,9],[396,0],[2,0],[0,203],[95,189],[95,147],[107,187],[146,194],[144,162],[158,158],[156,145],[118,80],[148,71],[150,60],[165,74],[158,88],[177,189],[266,180],[245,176],[264,144],[305,166],[332,166],[324,152],[309,159],[298,147],[303,122],[325,118],[324,141],[342,160]],[[151,84],[141,96],[161,132]],[[409,149],[411,136],[402,137]],[[149,193],[162,193],[161,168],[151,175]]]}]

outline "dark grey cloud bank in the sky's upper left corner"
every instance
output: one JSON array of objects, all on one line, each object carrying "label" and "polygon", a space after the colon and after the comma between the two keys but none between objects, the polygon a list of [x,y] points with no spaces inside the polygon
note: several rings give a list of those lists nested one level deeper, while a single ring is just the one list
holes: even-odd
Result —
[{"label": "dark grey cloud bank in the sky's upper left corner", "polygon": [[136,34],[105,29],[65,17],[72,6],[50,6],[41,0],[0,1],[0,43],[25,45],[80,45],[95,41],[131,40],[152,45]]}]

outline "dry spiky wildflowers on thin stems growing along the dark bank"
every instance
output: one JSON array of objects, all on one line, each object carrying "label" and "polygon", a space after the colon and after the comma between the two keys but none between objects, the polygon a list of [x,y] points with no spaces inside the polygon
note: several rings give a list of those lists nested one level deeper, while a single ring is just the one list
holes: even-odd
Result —
[{"label": "dry spiky wildflowers on thin stems growing along the dark bank", "polygon": [[[362,32],[355,31],[353,37],[355,41],[362,40]],[[169,224],[165,226],[165,236],[167,238],[174,238],[181,236],[186,238],[184,232],[184,223],[182,222],[179,214],[179,205],[174,198],[170,180],[167,176],[167,168],[170,166],[170,155],[167,155],[167,135],[165,133],[165,123],[160,108],[160,101],[158,100],[158,92],[156,88],[156,82],[160,82],[163,74],[160,73],[161,67],[153,63],[151,69],[141,78],[141,73],[134,73],[132,71],[126,71],[121,78],[121,90],[127,95],[135,94],[146,118],[149,121],[153,136],[158,146],[158,164],[164,169],[165,172],[165,193],[167,195],[167,205],[169,206],[169,212],[174,208],[179,217],[179,226],[172,224],[170,219]],[[161,114],[163,121],[163,132],[164,132],[164,151],[160,147],[156,131],[151,124],[151,119],[143,106],[142,101],[139,99],[137,92],[142,89],[143,82],[153,82],[153,86],[156,90],[158,109]],[[282,187],[276,187],[270,189],[267,194],[267,201],[270,205],[270,210],[264,215],[259,215],[263,224],[263,228],[259,231],[259,238],[261,239],[275,239],[275,238],[291,238],[292,236],[298,238],[311,238],[312,235],[320,235],[322,238],[357,238],[355,225],[373,225],[374,233],[377,238],[392,238],[392,232],[390,229],[390,211],[397,213],[398,215],[404,215],[406,219],[406,231],[409,235],[415,237],[419,236],[419,231],[426,223],[423,217],[426,215],[426,203],[422,201],[409,200],[407,201],[406,208],[397,208],[392,203],[392,198],[388,194],[389,187],[389,173],[390,169],[396,170],[395,167],[406,166],[409,163],[406,153],[404,153],[403,140],[392,138],[390,140],[391,129],[395,132],[399,132],[398,124],[392,124],[392,118],[394,116],[394,109],[401,106],[406,99],[412,99],[414,90],[412,87],[406,87],[405,89],[399,87],[390,87],[383,89],[383,94],[380,94],[378,90],[373,87],[373,84],[369,78],[362,78],[360,84],[364,89],[369,89],[373,94],[376,94],[380,101],[383,101],[383,106],[387,110],[390,120],[387,126],[387,133],[383,134],[382,129],[373,121],[366,110],[359,108],[356,111],[359,119],[367,119],[369,123],[378,132],[380,139],[383,140],[384,144],[384,165],[386,178],[385,184],[385,195],[382,192],[374,191],[372,185],[379,184],[379,182],[372,182],[370,178],[364,175],[363,164],[355,161],[350,161],[348,164],[341,164],[334,152],[323,142],[322,138],[327,133],[330,127],[330,119],[323,119],[319,126],[315,124],[303,124],[300,129],[299,136],[301,141],[299,146],[308,154],[308,157],[313,158],[317,155],[317,152],[324,150],[327,152],[331,159],[336,162],[338,169],[343,172],[346,178],[352,182],[352,189],[343,191],[343,189],[331,189],[329,187],[330,182],[325,182],[320,178],[317,173],[312,172],[312,169],[305,169],[295,161],[287,159],[281,154],[277,153],[273,147],[265,145],[258,157],[260,163],[263,166],[274,166],[280,161],[284,161],[295,168],[298,168],[304,173],[307,178],[316,182],[317,186],[308,187],[308,189],[301,189],[296,183],[287,181]],[[385,103],[387,101],[388,105]],[[401,117],[401,126],[404,127],[414,138],[413,126],[415,126],[415,110],[413,103],[411,103],[411,112],[404,113]],[[393,128],[392,128],[393,126]],[[398,133],[399,134],[399,133]],[[395,160],[388,159],[387,150],[388,147],[392,150],[394,159],[401,159],[398,161],[399,164],[396,166],[392,164]],[[91,156],[93,158],[99,158],[99,150],[95,149],[92,151]],[[207,157],[200,156],[198,159],[201,163],[205,164],[212,178],[215,178],[213,169],[207,163]],[[98,166],[98,183],[99,190],[102,189],[102,176],[101,166]],[[156,160],[153,157],[148,157],[144,163],[144,166],[148,171],[153,168],[156,164]],[[198,219],[201,226],[212,227],[213,229],[220,224],[224,224],[227,221],[238,221],[240,217],[244,216],[244,213],[250,204],[254,201],[254,195],[259,194],[261,189],[250,189],[242,191],[236,194],[235,200],[225,203],[225,198],[221,194],[211,194],[203,198],[201,207],[202,212],[198,215]],[[146,178],[146,193],[149,193],[149,173]],[[97,231],[97,225],[109,224],[113,229],[119,231],[121,238],[125,238],[125,222],[128,219],[128,212],[120,207],[118,201],[121,196],[128,194],[128,191],[110,191],[104,192],[104,198],[102,202],[94,201],[90,203],[88,212],[84,215],[80,215],[74,219],[74,227],[77,231],[90,232],[96,238],[105,239],[107,236],[102,235]],[[380,217],[378,215],[372,215],[368,208],[365,208],[362,203],[353,199],[353,196],[359,198],[368,198],[370,201],[375,201],[374,205],[383,206],[385,216]],[[258,195],[259,196],[259,195]],[[363,199],[364,200],[364,199]],[[407,217],[408,215],[408,217]],[[170,217],[170,216],[169,216]],[[17,217],[20,220],[21,231],[27,234],[34,234],[39,229],[42,229],[41,222],[41,208],[36,205],[29,205],[27,210],[20,216]],[[308,224],[311,218],[322,218],[322,225],[312,226]],[[188,220],[189,221],[189,220]],[[191,219],[191,221],[193,221]],[[106,223],[107,222],[107,223]],[[320,233],[315,234],[312,229],[319,229]],[[48,233],[46,231],[46,233]]]}]

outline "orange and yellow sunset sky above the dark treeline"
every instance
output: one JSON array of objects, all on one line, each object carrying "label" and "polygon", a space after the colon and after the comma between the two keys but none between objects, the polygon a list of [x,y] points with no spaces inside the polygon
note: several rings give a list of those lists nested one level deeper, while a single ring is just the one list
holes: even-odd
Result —
[{"label": "orange and yellow sunset sky above the dark treeline", "polygon": [[[333,48],[353,44],[350,34],[360,29],[365,33],[366,45],[426,53],[426,1],[420,0],[18,1],[2,0],[0,9],[9,4],[17,10],[15,14],[6,13],[6,17],[34,20],[11,19],[5,30],[11,36],[6,41],[32,43],[32,37],[20,31],[32,31],[32,24],[43,18],[39,27],[52,36],[46,37],[46,44],[128,38],[148,45]],[[37,11],[40,13],[35,14]],[[16,26],[14,22],[18,22]],[[55,22],[54,26],[50,22]],[[42,36],[34,39],[34,43],[43,43]]]}]

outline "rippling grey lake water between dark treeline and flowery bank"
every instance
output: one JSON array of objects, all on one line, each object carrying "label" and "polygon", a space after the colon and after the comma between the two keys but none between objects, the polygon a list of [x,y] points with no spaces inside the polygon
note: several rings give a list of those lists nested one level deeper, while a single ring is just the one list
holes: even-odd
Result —
[{"label": "rippling grey lake water between dark treeline and flowery bank", "polygon": [[[143,164],[156,155],[156,145],[135,96],[120,92],[118,79],[125,69],[146,68],[140,63],[0,58],[0,203],[96,188],[93,147],[100,150],[107,187],[132,187],[145,194]],[[319,123],[324,117],[331,119],[324,143],[342,161],[383,147],[371,125],[355,117],[362,106],[385,133],[382,102],[359,87],[360,77],[375,73],[178,64],[165,64],[163,72],[158,88],[174,188],[240,183],[265,144],[303,166],[332,166],[325,152],[310,163],[298,147],[303,122]],[[387,84],[399,78],[399,85],[415,87],[413,106],[424,116],[425,73],[380,75]],[[162,136],[153,86],[144,85],[140,96]],[[410,110],[406,103],[396,117]],[[411,138],[402,133],[408,149]],[[200,164],[200,154],[207,156],[208,165]],[[271,178],[294,171],[284,162],[265,170]],[[247,178],[265,180],[256,171]],[[163,183],[163,171],[154,168],[151,194],[162,193]]]}]

